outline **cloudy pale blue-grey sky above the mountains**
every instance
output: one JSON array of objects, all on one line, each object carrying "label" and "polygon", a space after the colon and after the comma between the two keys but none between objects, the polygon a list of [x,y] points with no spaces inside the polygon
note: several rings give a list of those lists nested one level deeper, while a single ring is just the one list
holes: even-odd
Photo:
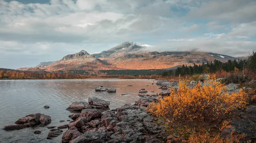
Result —
[{"label": "cloudy pale blue-grey sky above the mountains", "polygon": [[0,0],[0,67],[34,67],[126,41],[247,56],[256,0]]}]

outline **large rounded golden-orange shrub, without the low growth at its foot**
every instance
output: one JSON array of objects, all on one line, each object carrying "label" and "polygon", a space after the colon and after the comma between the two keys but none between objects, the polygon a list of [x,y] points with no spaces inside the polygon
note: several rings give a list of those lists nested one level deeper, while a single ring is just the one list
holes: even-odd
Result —
[{"label": "large rounded golden-orange shrub, without the low growth at its foot", "polygon": [[179,90],[170,89],[171,94],[151,103],[148,111],[162,118],[172,129],[211,129],[229,118],[232,111],[247,104],[247,94],[228,93],[224,84],[215,76],[193,88],[179,81]]}]

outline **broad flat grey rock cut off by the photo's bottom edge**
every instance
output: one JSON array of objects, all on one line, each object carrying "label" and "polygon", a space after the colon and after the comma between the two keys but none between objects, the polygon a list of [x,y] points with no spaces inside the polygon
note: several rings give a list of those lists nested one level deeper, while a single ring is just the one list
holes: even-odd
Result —
[{"label": "broad flat grey rock cut off by the photo's bottom edge", "polygon": [[104,143],[106,140],[106,132],[85,132],[70,143]]}]

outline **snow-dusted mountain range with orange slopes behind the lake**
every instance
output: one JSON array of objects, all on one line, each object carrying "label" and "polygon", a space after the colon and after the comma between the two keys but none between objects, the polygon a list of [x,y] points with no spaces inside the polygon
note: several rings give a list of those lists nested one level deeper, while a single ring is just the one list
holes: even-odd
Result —
[{"label": "snow-dusted mountain range with orange slopes behind the lake", "polygon": [[170,69],[183,64],[202,64],[215,59],[221,62],[236,59],[223,54],[197,51],[148,52],[148,47],[152,46],[129,41],[101,53],[89,54],[81,50],[79,53],[64,56],[59,61],[42,64],[44,66],[20,68],[20,70],[62,70],[65,72],[84,70],[87,74],[96,74],[99,70]]}]

